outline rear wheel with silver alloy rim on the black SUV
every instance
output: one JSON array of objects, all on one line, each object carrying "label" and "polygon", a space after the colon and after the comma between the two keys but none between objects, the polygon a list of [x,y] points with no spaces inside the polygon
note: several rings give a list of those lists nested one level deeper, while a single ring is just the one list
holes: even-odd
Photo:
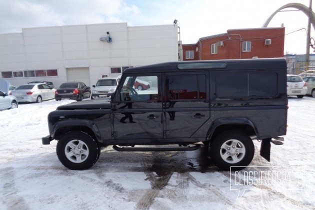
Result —
[{"label": "rear wheel with silver alloy rim on the black SUV", "polygon": [[254,145],[244,132],[228,130],[215,137],[210,145],[209,155],[212,162],[222,170],[240,170],[251,162]]}]

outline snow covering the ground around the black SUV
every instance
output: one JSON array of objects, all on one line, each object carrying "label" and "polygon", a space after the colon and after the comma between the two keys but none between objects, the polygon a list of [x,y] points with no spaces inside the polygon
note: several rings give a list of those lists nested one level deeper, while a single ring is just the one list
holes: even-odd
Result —
[{"label": "snow covering the ground around the black SUV", "polygon": [[[315,209],[315,98],[289,97],[284,144],[271,144],[267,162],[255,141],[254,159],[240,173],[208,163],[199,156],[204,149],[124,153],[110,146],[90,169],[69,170],[55,154],[56,141],[41,144],[47,114],[69,102],[0,112],[0,209]],[[279,177],[254,184],[239,175],[249,171]]]}]

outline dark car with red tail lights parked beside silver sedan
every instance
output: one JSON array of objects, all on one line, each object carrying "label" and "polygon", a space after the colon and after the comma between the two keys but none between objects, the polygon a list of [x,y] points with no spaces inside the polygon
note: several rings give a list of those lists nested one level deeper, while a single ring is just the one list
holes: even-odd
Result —
[{"label": "dark car with red tail lights parked beside silver sedan", "polygon": [[89,98],[90,96],[91,90],[89,86],[79,81],[64,82],[54,91],[55,100],[83,100],[83,98]]}]

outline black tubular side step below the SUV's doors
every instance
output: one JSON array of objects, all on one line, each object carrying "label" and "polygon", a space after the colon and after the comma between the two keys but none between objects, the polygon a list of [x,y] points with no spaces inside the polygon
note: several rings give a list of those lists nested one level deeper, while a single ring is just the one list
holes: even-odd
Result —
[{"label": "black tubular side step below the SUV's doors", "polygon": [[126,147],[126,146],[117,146],[113,145],[112,148],[117,151],[192,151],[196,150],[200,147],[200,145],[194,145],[194,146],[148,146],[148,147]]}]

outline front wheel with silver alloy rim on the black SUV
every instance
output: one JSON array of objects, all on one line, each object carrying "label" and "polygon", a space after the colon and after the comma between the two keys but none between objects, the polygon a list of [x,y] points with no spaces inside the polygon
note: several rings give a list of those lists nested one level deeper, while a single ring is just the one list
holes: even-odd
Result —
[{"label": "front wheel with silver alloy rim on the black SUV", "polygon": [[100,147],[87,133],[70,131],[58,140],[56,152],[65,167],[72,170],[86,170],[97,161]]}]

